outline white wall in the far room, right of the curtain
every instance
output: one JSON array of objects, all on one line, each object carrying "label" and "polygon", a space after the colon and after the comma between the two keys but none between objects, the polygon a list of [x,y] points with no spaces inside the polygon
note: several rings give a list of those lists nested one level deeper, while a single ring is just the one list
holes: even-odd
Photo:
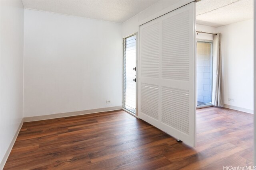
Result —
[{"label": "white wall in the far room, right of the curtain", "polygon": [[[226,107],[253,112],[253,20],[216,28],[222,33],[224,104]],[[234,102],[228,101],[234,99]]]}]

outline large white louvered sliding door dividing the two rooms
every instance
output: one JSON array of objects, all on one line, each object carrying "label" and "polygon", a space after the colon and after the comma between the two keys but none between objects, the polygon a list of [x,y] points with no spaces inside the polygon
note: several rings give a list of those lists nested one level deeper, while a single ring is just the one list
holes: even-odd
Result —
[{"label": "large white louvered sliding door dividing the two rooms", "polygon": [[140,26],[139,117],[196,145],[195,2]]}]

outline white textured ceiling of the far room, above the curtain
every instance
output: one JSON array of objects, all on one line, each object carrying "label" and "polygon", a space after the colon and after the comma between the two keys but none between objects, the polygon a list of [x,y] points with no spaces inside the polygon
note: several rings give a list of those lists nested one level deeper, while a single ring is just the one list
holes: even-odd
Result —
[{"label": "white textured ceiling of the far room, above the curtain", "polygon": [[201,0],[196,3],[196,23],[219,27],[253,18],[253,0]]}]

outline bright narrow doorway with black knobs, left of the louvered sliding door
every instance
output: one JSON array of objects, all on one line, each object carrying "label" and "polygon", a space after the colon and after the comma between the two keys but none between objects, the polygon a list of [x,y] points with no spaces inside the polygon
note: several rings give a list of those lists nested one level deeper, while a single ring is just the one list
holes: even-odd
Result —
[{"label": "bright narrow doorway with black knobs, left of the louvered sliding door", "polygon": [[124,38],[123,108],[136,114],[136,35]]}]

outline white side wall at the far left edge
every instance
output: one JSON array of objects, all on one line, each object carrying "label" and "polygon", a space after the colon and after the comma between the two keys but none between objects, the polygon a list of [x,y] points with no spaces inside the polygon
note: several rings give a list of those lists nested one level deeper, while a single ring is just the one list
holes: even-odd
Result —
[{"label": "white side wall at the far left edge", "polygon": [[[23,28],[21,1],[0,1],[0,161],[20,123],[23,109]],[[0,167],[2,168],[2,167]]]}]

